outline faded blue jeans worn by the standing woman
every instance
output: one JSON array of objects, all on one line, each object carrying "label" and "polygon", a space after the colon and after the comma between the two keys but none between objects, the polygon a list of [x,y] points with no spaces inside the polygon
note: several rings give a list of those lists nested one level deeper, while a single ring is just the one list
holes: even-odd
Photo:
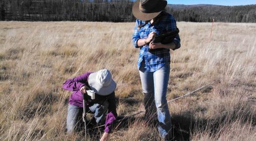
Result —
[{"label": "faded blue jeans worn by the standing woman", "polygon": [[145,63],[142,62],[139,75],[144,93],[145,116],[150,119],[157,112],[158,131],[161,137],[171,137],[171,116],[166,100],[170,63],[166,63],[165,66],[155,72],[147,72],[144,67]]}]

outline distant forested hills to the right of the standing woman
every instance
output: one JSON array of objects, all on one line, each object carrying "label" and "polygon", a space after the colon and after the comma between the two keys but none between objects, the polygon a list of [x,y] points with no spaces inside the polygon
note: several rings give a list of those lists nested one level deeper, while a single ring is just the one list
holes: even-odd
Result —
[{"label": "distant forested hills to the right of the standing woman", "polygon": [[169,7],[168,11],[178,21],[211,22],[215,18],[217,22],[256,22],[256,5],[200,5],[176,10]]}]

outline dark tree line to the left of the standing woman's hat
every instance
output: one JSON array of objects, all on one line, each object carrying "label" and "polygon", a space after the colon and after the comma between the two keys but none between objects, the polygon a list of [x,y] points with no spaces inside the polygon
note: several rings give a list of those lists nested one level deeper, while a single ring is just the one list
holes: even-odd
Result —
[{"label": "dark tree line to the left of the standing woman's hat", "polygon": [[130,0],[1,0],[0,19],[15,21],[132,21]]}]

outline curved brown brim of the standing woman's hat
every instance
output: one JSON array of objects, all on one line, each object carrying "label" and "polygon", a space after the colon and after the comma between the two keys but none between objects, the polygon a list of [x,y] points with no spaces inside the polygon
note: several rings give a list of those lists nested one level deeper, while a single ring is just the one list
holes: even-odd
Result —
[{"label": "curved brown brim of the standing woman's hat", "polygon": [[166,7],[167,1],[166,0],[161,0],[158,3],[158,6],[154,9],[152,13],[145,13],[139,10],[139,1],[137,0],[132,7],[132,14],[134,15],[135,18],[141,20],[141,21],[148,21],[151,19],[154,19],[157,17]]}]

